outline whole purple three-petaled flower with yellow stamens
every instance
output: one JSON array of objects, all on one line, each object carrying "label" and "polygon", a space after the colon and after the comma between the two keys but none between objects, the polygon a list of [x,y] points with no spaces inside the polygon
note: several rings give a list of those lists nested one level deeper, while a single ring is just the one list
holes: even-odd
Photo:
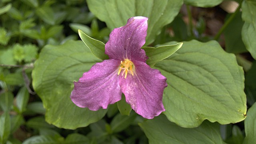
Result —
[{"label": "whole purple three-petaled flower with yellow stamens", "polygon": [[126,102],[144,118],[152,119],[165,111],[162,96],[167,86],[159,70],[146,64],[145,44],[148,18],[132,17],[125,26],[115,28],[105,45],[109,60],[94,64],[74,82],[71,100],[90,110],[106,109],[109,104]]}]

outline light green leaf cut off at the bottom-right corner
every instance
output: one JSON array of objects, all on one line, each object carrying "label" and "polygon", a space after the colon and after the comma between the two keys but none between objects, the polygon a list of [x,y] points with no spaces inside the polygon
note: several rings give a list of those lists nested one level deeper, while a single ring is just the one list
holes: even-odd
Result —
[{"label": "light green leaf cut off at the bottom-right corner", "polygon": [[249,108],[247,118],[244,120],[246,137],[243,144],[253,144],[256,142],[256,103]]}]

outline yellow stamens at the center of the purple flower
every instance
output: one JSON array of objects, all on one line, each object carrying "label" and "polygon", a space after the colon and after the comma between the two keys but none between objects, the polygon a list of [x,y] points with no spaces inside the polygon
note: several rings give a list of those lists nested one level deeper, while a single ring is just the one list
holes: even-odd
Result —
[{"label": "yellow stamens at the center of the purple flower", "polygon": [[124,75],[124,78],[127,77],[128,72],[129,72],[130,74],[132,74],[132,76],[133,76],[132,66],[133,66],[132,61],[130,61],[130,60],[128,60],[128,59],[125,59],[124,61],[121,60],[120,68],[119,68],[119,70],[118,70],[117,75],[119,75],[120,72],[123,70],[122,76],[125,74],[125,75]]}]

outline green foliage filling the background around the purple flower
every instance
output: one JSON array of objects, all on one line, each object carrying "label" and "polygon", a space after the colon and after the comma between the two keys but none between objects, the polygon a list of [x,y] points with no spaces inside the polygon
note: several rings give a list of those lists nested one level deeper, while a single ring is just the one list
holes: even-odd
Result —
[{"label": "green foliage filling the background around the purple flower", "polygon": [[[0,143],[255,142],[256,1],[236,0],[230,14],[225,2],[1,0]],[[149,18],[143,49],[167,78],[166,111],[146,120],[124,96],[77,107],[73,82],[108,59],[111,30],[132,16]]]}]

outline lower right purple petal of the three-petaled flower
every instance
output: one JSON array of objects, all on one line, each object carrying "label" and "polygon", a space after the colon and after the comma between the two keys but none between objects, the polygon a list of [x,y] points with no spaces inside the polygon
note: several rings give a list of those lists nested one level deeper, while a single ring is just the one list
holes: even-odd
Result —
[{"label": "lower right purple petal of the three-petaled flower", "polygon": [[165,111],[162,103],[166,78],[159,70],[150,68],[146,63],[133,61],[134,76],[120,77],[121,90],[126,102],[144,118],[152,119]]}]

